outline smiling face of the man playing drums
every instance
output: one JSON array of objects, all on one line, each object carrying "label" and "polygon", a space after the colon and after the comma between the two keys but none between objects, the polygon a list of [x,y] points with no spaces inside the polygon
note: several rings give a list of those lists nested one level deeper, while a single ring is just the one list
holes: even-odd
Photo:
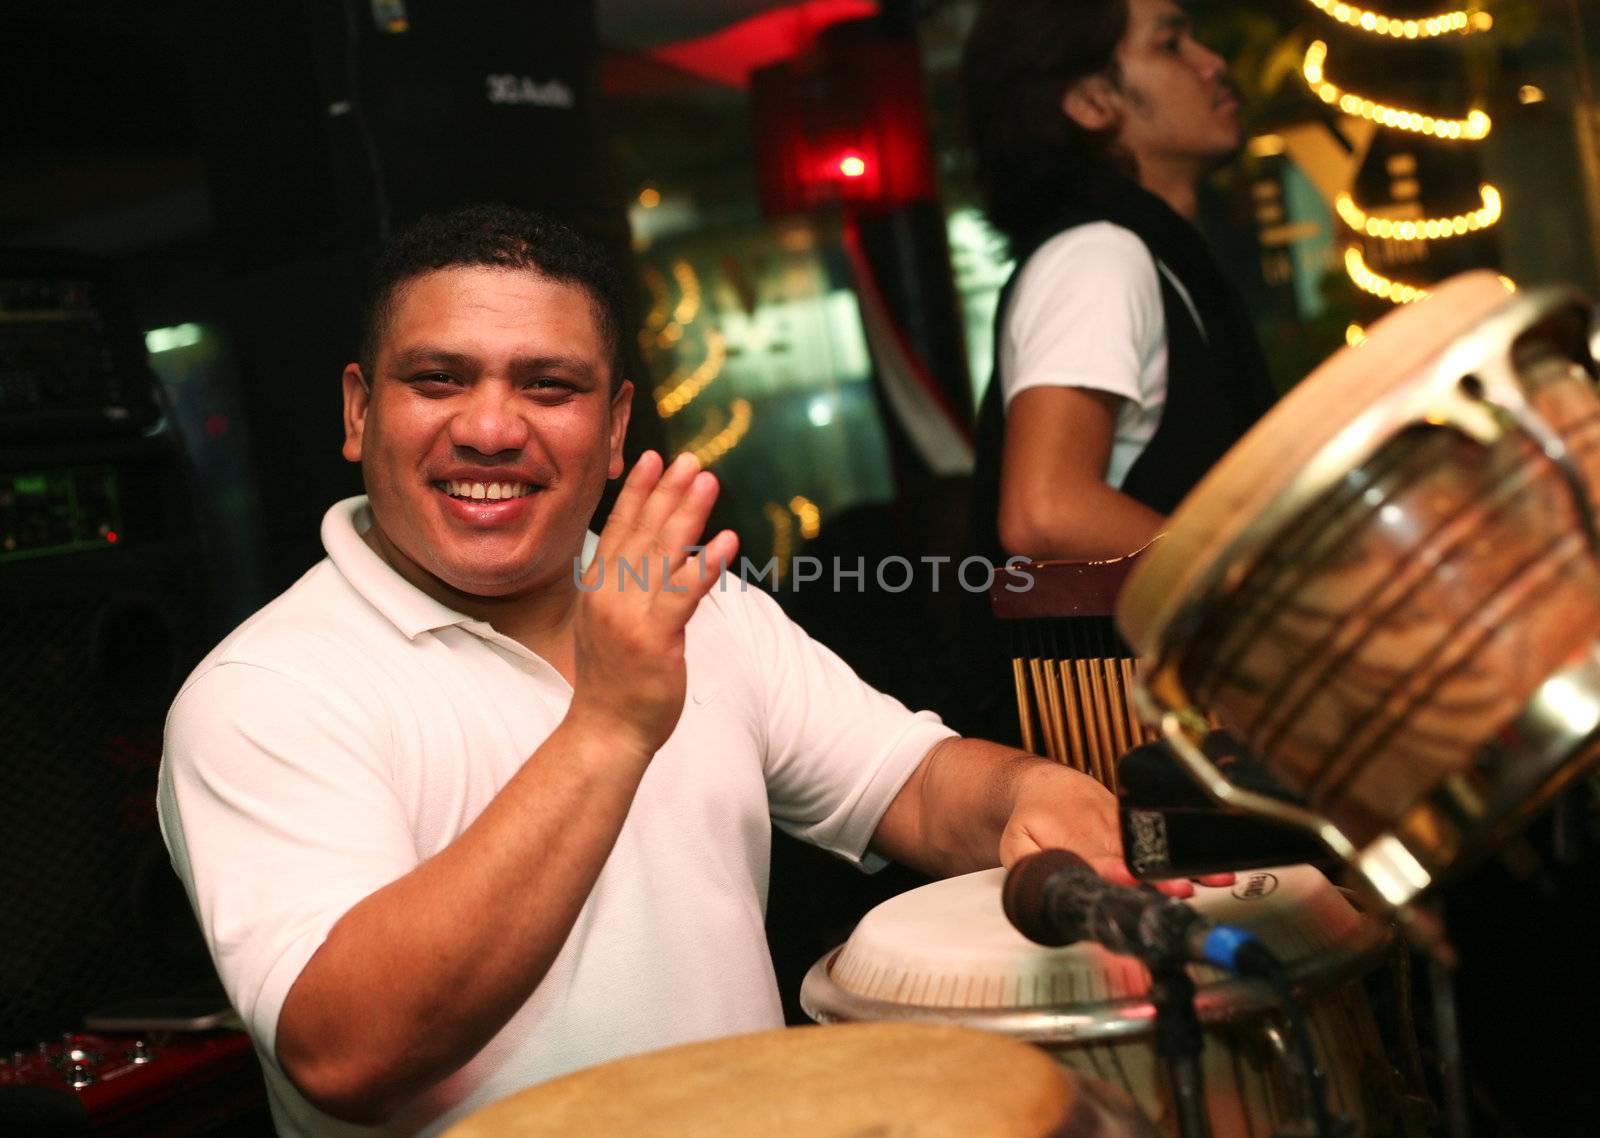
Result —
[{"label": "smiling face of the man playing drums", "polygon": [[446,603],[570,581],[622,471],[632,394],[611,392],[589,293],[514,269],[430,272],[397,293],[374,370],[346,368],[344,456],[395,570]]}]

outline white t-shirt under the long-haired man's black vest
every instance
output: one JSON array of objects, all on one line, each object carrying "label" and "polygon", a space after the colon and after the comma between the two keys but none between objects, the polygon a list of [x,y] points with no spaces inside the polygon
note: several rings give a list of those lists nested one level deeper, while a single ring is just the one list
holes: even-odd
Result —
[{"label": "white t-shirt under the long-haired man's black vest", "polygon": [[1000,331],[1000,395],[1010,410],[1029,387],[1088,387],[1122,397],[1106,482],[1122,487],[1166,407],[1162,272],[1195,314],[1189,291],[1133,230],[1109,221],[1066,229],[1022,266]]}]

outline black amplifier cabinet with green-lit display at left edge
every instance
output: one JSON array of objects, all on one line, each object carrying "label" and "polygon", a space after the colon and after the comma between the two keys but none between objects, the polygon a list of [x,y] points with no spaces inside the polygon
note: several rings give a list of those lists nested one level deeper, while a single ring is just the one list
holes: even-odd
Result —
[{"label": "black amplifier cabinet with green-lit display at left edge", "polygon": [[[46,485],[107,490],[91,507]],[[8,448],[0,499],[11,536],[80,538],[0,557],[0,1045],[24,1047],[211,978],[155,773],[166,707],[218,629],[171,435]]]}]

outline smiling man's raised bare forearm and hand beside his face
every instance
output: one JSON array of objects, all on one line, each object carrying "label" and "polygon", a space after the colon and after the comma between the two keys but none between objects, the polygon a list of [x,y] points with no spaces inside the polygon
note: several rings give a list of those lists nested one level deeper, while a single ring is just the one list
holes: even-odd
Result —
[{"label": "smiling man's raised bare forearm and hand beside his face", "polygon": [[[688,549],[717,496],[698,471],[642,458],[597,565]],[[736,549],[722,533],[706,560]],[[672,591],[581,594],[566,719],[454,842],[350,908],[290,988],[277,1058],[318,1109],[382,1120],[470,1060],[544,978],[682,712],[683,631],[715,581],[685,557]]]}]

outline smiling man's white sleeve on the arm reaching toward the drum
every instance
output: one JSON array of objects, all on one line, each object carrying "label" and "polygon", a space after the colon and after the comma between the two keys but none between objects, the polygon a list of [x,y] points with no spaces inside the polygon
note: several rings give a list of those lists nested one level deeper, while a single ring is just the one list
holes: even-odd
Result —
[{"label": "smiling man's white sleeve on the arm reaching toward the drum", "polygon": [[726,579],[728,592],[710,595],[728,611],[760,687],[773,823],[862,869],[882,868],[867,843],[883,811],[955,731],[862,682],[763,591]]}]

